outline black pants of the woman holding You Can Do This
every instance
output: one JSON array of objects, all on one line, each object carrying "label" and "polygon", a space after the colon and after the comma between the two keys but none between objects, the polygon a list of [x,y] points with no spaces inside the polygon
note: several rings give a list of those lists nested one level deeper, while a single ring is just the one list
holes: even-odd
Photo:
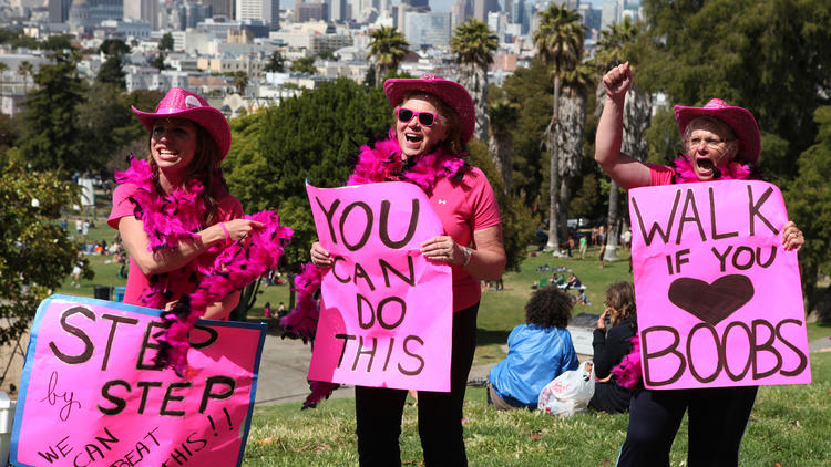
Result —
[{"label": "black pants of the woman holding You Can Do This", "polygon": [[[476,349],[479,303],[453,313],[450,392],[419,391],[419,436],[427,466],[466,466],[462,438],[462,404]],[[361,466],[400,466],[401,434],[407,391],[355,387],[358,456]]]}]

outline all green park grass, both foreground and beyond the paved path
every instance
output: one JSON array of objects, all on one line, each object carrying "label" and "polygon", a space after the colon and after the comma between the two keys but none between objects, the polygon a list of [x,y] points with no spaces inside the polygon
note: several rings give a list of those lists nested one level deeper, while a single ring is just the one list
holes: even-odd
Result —
[{"label": "all green park grass, both foreground and beyond the paved path", "polygon": [[[90,231],[93,240],[111,241],[114,230],[103,219]],[[503,291],[486,291],[479,312],[479,346],[474,364],[495,363],[504,356],[500,349],[510,331],[523,322],[524,305],[533,292],[531,286],[552,272],[537,267],[563,266],[587,286],[591,305],[575,305],[574,314],[601,313],[606,287],[617,280],[632,280],[628,251],[620,261],[601,269],[597,249],[585,260],[529,257],[521,272],[504,277]],[[92,297],[94,286],[123,286],[115,277],[116,266],[109,257],[88,256],[95,278],[81,288],[65,284],[58,292]],[[288,303],[289,288],[263,287],[257,303],[248,313],[263,316],[263,304],[276,308]],[[808,325],[809,340],[831,336],[831,323]],[[829,466],[831,444],[831,352],[811,354],[813,383],[810,385],[765,386],[742,443],[742,466]],[[343,466],[357,465],[355,408],[351,399],[326,401],[318,408],[300,411],[300,403],[257,406],[248,436],[245,466]],[[611,466],[625,436],[626,415],[595,413],[556,418],[540,413],[503,413],[485,403],[483,388],[468,390],[465,401],[465,444],[471,466]],[[421,447],[416,427],[416,406],[404,411],[401,435],[404,465],[421,464]],[[686,424],[673,446],[673,466],[686,465]]]}]

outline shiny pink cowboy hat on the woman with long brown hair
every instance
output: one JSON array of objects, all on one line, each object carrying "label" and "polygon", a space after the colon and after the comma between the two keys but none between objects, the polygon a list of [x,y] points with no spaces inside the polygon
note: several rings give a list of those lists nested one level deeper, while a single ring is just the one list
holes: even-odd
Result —
[{"label": "shiny pink cowboy hat on the woman with long brown hair", "polygon": [[133,113],[147,131],[153,129],[153,122],[160,117],[186,118],[205,128],[219,147],[219,160],[230,149],[230,127],[222,112],[212,107],[207,101],[182,87],[171,87],[153,113],[142,112],[135,107]]}]

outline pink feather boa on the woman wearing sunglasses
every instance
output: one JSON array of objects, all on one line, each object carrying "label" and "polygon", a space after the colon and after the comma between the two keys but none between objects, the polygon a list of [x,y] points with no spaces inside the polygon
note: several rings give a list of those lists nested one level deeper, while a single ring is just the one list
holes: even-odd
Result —
[{"label": "pink feather boa on the woman wearing sunglasses", "polygon": [[[401,147],[396,139],[394,128],[390,128],[387,139],[373,146],[360,147],[358,163],[347,185],[362,185],[379,181],[410,181],[430,194],[442,177],[462,176],[469,166],[461,157],[439,148],[432,154],[419,157],[413,164],[401,162]],[[297,307],[290,314],[280,319],[280,325],[288,334],[299,336],[304,342],[315,341],[315,331],[320,309],[315,294],[320,290],[325,270],[311,263],[304,266],[295,278]],[[339,384],[309,380],[311,394],[306,397],[302,408],[315,407],[319,402],[329,398]]]}]

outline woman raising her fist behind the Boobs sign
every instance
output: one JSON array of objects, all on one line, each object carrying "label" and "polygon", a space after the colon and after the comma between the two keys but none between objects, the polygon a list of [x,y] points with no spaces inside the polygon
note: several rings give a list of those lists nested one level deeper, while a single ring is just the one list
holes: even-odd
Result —
[{"label": "woman raising her fist behind the Boobs sign", "polygon": [[[746,108],[714,98],[704,107],[675,107],[686,149],[675,167],[644,164],[620,153],[623,108],[633,75],[628,63],[603,77],[606,103],[597,126],[595,159],[624,189],[680,183],[758,178],[759,127]],[[799,249],[802,232],[782,227],[786,250]],[[696,466],[736,466],[757,386],[653,391],[633,384],[629,427],[618,466],[668,466],[669,449],[689,411],[687,461]]]}]

